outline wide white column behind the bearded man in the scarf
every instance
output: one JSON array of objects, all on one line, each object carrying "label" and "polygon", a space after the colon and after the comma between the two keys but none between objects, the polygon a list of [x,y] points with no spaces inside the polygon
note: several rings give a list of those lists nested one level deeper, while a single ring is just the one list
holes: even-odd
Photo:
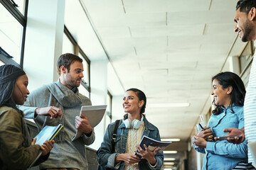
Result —
[{"label": "wide white column behind the bearded man in the scarf", "polygon": [[56,62],[62,53],[65,1],[33,0],[28,3],[24,70],[29,90],[58,80]]}]

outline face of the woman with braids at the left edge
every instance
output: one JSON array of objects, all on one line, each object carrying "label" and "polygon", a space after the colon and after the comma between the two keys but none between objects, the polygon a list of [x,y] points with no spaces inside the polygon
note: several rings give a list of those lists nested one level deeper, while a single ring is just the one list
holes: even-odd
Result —
[{"label": "face of the woman with braids at the left edge", "polygon": [[16,82],[14,85],[14,92],[11,95],[11,99],[14,101],[14,103],[18,105],[23,105],[23,103],[26,101],[26,98],[28,98],[28,94],[29,94],[27,86],[28,86],[28,77],[26,76],[26,74],[16,79]]}]

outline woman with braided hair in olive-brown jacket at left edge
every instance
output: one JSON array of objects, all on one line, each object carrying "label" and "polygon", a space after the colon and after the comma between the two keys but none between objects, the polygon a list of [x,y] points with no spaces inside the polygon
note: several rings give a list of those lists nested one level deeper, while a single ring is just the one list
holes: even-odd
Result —
[{"label": "woman with braided hair in olive-brown jacket at left edge", "polygon": [[0,169],[26,169],[31,165],[40,149],[43,156],[39,164],[48,159],[53,148],[51,141],[43,146],[35,145],[17,105],[23,105],[29,94],[28,77],[25,72],[11,64],[0,67]]}]

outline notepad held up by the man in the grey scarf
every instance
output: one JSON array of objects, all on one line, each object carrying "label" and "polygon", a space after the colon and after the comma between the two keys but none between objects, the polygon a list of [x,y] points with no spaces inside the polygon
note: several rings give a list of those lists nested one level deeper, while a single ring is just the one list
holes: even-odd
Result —
[{"label": "notepad held up by the man in the grey scarf", "polygon": [[[107,108],[107,105],[82,106],[80,112],[87,117],[92,128],[95,128],[95,126],[97,126],[102,120],[105,114],[106,108]],[[78,139],[80,136],[82,136],[82,132],[77,130],[75,132],[75,136],[71,138],[71,141]]]}]

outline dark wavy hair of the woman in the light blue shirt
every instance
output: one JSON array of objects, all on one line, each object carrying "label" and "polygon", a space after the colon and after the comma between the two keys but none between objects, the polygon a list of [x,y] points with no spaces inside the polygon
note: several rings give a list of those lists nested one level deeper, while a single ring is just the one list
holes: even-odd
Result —
[{"label": "dark wavy hair of the woman in the light blue shirt", "polygon": [[[221,72],[219,74],[216,74],[212,81],[216,79],[218,80],[219,84],[223,86],[223,89],[228,88],[228,86],[233,87],[233,91],[230,93],[230,108],[231,111],[233,111],[233,104],[235,106],[243,106],[245,102],[245,85],[242,82],[242,79],[233,72]],[[213,100],[213,104],[216,106],[216,108],[213,110],[213,115],[218,115],[223,111],[223,108],[221,106],[215,104],[215,100]]]}]

